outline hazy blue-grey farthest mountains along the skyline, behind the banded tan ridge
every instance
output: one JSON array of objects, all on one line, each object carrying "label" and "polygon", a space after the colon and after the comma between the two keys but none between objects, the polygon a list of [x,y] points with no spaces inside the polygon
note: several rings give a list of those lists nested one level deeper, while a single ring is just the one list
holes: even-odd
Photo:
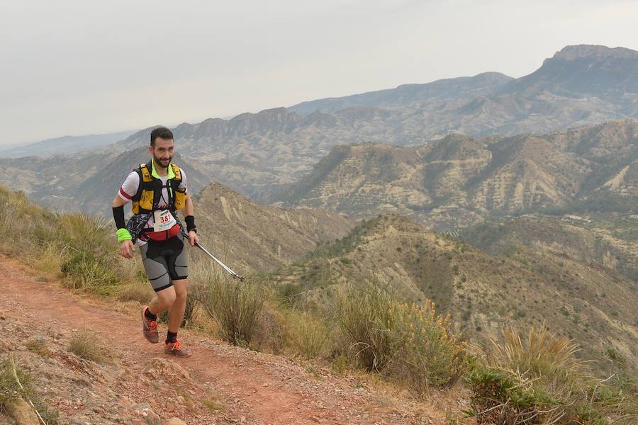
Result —
[{"label": "hazy blue-grey farthest mountains along the skyline, behind the banded tan ridge", "polygon": [[[298,181],[336,145],[418,146],[450,134],[542,134],[638,118],[638,52],[565,47],[526,77],[486,73],[209,119],[174,129],[177,149],[259,202]],[[149,130],[119,144],[147,145]]]}]

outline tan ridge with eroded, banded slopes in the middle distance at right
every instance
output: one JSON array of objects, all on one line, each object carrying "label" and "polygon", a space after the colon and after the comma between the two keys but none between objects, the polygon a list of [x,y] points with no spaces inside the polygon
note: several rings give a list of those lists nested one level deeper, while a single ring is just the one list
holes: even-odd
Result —
[{"label": "tan ridge with eroded, banded slopes in the middle distance at right", "polygon": [[446,229],[523,212],[629,213],[637,196],[638,121],[620,120],[549,135],[335,147],[280,200]]}]

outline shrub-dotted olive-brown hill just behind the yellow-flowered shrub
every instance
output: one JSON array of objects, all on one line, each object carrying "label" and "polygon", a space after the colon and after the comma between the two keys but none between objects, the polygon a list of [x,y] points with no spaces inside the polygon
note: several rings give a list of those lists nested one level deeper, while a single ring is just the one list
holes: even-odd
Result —
[{"label": "shrub-dotted olive-brown hill just behind the yellow-flowered shrub", "polygon": [[[300,302],[322,307],[347,283],[381,282],[405,300],[434,300],[471,339],[505,325],[546,324],[600,360],[613,347],[638,365],[638,288],[620,273],[553,251],[517,247],[491,256],[398,215],[382,215],[274,273]],[[600,361],[598,370],[610,362]]]}]

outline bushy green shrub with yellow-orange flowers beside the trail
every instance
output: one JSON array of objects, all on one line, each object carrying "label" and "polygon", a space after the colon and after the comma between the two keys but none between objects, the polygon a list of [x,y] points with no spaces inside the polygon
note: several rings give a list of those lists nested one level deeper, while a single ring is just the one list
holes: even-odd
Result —
[{"label": "bushy green shrub with yellow-orange flowers beside the trail", "polygon": [[354,365],[408,382],[423,395],[464,373],[464,344],[435,304],[398,302],[379,285],[340,297],[337,322]]}]

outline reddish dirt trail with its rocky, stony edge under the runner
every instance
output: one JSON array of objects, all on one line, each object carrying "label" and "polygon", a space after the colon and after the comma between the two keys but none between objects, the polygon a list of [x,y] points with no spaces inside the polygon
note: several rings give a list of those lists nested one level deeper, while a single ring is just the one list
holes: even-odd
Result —
[{"label": "reddish dirt trail with its rocky, stony edge under the runner", "polygon": [[[444,411],[463,408],[449,394],[417,402],[195,331],[181,334],[194,356],[172,358],[142,338],[133,307],[73,295],[6,257],[0,279],[0,360],[15,358],[62,424],[443,424]],[[69,350],[87,332],[108,348],[101,363]],[[2,412],[4,424],[16,420]]]}]

